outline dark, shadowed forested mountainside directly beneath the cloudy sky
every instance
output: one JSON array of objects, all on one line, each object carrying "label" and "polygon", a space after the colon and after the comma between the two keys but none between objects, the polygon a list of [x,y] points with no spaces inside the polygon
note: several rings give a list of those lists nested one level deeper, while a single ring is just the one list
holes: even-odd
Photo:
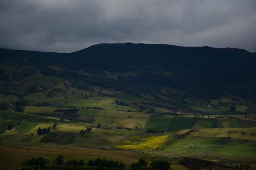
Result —
[{"label": "dark, shadowed forested mountainside directly beneath the cloudy sky", "polygon": [[[29,66],[46,76],[128,93],[153,95],[162,87],[170,87],[182,91],[178,95],[182,100],[227,94],[256,99],[256,54],[243,49],[116,43],[97,44],[68,54],[0,49],[0,58],[4,65]],[[117,77],[109,77],[106,72]],[[31,74],[27,68],[9,77],[23,79]],[[4,70],[1,81],[8,81]]]}]

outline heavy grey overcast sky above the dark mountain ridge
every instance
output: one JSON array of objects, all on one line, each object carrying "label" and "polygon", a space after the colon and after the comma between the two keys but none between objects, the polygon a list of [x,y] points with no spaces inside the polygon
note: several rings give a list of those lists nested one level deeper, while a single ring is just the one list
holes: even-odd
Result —
[{"label": "heavy grey overcast sky above the dark mountain ridge", "polygon": [[133,42],[256,52],[255,0],[0,0],[0,48]]}]

